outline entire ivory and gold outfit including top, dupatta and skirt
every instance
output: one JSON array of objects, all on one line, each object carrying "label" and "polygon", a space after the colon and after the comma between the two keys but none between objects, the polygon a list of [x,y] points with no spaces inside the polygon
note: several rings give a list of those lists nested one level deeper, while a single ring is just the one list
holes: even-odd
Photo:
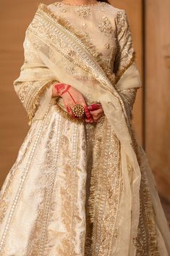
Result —
[{"label": "entire ivory and gold outfit including top, dupatta and skirt", "polygon": [[[1,256],[168,256],[170,235],[132,125],[142,86],[127,14],[110,4],[40,4],[14,89],[30,130],[0,194]],[[55,81],[104,115],[69,117]]]}]

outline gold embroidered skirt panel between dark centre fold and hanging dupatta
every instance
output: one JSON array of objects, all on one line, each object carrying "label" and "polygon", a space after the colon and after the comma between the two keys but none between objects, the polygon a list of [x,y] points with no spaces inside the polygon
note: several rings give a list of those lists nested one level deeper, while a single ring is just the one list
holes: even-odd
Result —
[{"label": "gold embroidered skirt panel between dark centre fold and hanging dupatta", "polygon": [[85,256],[103,256],[110,255],[112,238],[117,237],[115,222],[122,191],[120,144],[105,117],[96,126],[93,150]]}]

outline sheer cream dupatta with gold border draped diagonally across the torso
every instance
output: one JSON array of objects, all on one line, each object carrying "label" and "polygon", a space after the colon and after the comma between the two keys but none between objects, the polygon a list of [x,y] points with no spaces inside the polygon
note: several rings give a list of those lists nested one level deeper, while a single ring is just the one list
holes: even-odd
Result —
[{"label": "sheer cream dupatta with gold border draped diagonally across the torso", "polygon": [[[121,143],[122,154],[123,191],[118,209],[120,214],[116,216],[114,223],[115,229],[119,227],[121,239],[119,239],[117,247],[119,249],[114,252],[114,256],[132,256],[137,252],[137,247],[134,244],[137,243],[140,220],[140,160],[142,154],[140,152],[143,149],[137,144],[131,120],[132,105],[141,82],[135,65],[135,51],[132,47],[132,38],[124,10],[118,13],[116,21],[118,28],[117,55],[114,70],[109,70],[87,36],[83,36],[75,30],[64,18],[54,15],[45,4],[40,4],[26,31],[24,44],[26,61],[22,67],[20,78],[14,81],[14,88],[33,120],[43,120],[51,101],[51,86],[56,80],[69,83],[88,99],[101,102],[105,115]],[[98,81],[95,88],[86,83],[82,84],[80,80],[67,73],[64,67],[68,67],[70,62],[90,73]],[[45,88],[47,92],[43,94]],[[132,178],[129,178],[129,166],[133,169]],[[147,166],[147,168],[149,167]],[[150,182],[153,183],[152,178]],[[160,205],[155,187],[152,188],[150,194],[156,198],[156,204]],[[159,208],[159,213],[163,218],[163,232],[168,234],[161,205]],[[148,213],[153,215],[152,205],[149,210]],[[154,219],[151,229],[151,239],[152,237],[155,239]],[[157,244],[154,246],[156,249]],[[109,252],[111,252],[111,248],[109,248]]]}]

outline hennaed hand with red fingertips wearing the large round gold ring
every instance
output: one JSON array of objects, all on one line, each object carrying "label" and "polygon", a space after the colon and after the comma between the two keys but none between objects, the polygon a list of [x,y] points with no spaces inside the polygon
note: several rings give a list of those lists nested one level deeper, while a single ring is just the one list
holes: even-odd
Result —
[{"label": "hennaed hand with red fingertips wearing the large round gold ring", "polygon": [[90,114],[90,110],[88,110],[88,105],[86,104],[84,97],[80,91],[77,91],[73,86],[68,85],[67,83],[55,83],[52,96],[62,97],[64,107],[71,117],[75,117],[72,112],[72,107],[74,107],[75,104],[81,104],[85,109],[85,122],[93,123],[93,116]]}]

